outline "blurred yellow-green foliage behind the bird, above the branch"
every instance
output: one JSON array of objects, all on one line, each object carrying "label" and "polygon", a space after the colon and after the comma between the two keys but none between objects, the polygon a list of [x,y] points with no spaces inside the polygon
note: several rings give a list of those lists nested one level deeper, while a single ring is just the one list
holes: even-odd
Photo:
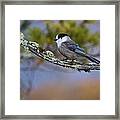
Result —
[{"label": "blurred yellow-green foliage behind the bird, above the branch", "polygon": [[[37,22],[36,26],[32,23]],[[92,32],[88,26],[95,25],[96,20],[45,20],[45,21],[21,21],[21,31],[25,32],[27,38],[40,44],[41,47],[54,45],[54,37],[58,33],[67,33],[70,37],[83,47],[86,51],[86,45],[96,47],[99,45],[100,34]],[[39,24],[40,23],[40,24]],[[44,27],[44,29],[43,29]],[[98,26],[99,27],[99,26]],[[98,28],[99,29],[99,28]]]}]

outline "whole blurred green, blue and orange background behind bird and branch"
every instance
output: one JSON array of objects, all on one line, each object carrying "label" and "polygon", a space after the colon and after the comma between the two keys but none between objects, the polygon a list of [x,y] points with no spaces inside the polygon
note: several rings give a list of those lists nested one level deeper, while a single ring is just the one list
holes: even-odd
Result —
[{"label": "whole blurred green, blue and orange background behind bird and branch", "polygon": [[[100,59],[99,20],[21,20],[20,31],[59,59],[63,56],[57,51],[54,38],[58,33],[67,33],[87,53]],[[100,71],[63,68],[20,47],[20,99],[99,100]]]}]

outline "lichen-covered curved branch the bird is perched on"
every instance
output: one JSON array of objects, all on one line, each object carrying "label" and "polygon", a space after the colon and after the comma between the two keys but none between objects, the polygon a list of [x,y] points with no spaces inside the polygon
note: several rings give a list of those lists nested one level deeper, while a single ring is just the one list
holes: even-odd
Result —
[{"label": "lichen-covered curved branch the bird is perched on", "polygon": [[51,62],[53,64],[56,64],[65,68],[71,68],[71,69],[76,69],[78,71],[85,71],[85,72],[89,72],[91,70],[100,70],[99,64],[94,64],[94,63],[81,64],[79,61],[76,61],[76,60],[74,61],[60,60],[55,57],[53,52],[43,50],[38,43],[31,42],[25,39],[25,36],[23,33],[20,34],[20,45],[26,50],[29,50],[31,53],[33,53],[37,57],[40,57],[48,62]]}]

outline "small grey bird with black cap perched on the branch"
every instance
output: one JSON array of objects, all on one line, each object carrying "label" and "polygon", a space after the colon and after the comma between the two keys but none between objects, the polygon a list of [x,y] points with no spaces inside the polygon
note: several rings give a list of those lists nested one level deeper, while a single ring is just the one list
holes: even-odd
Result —
[{"label": "small grey bird with black cap perched on the branch", "polygon": [[95,57],[87,54],[83,48],[76,44],[67,33],[59,33],[55,36],[58,51],[69,60],[91,61],[100,64]]}]

